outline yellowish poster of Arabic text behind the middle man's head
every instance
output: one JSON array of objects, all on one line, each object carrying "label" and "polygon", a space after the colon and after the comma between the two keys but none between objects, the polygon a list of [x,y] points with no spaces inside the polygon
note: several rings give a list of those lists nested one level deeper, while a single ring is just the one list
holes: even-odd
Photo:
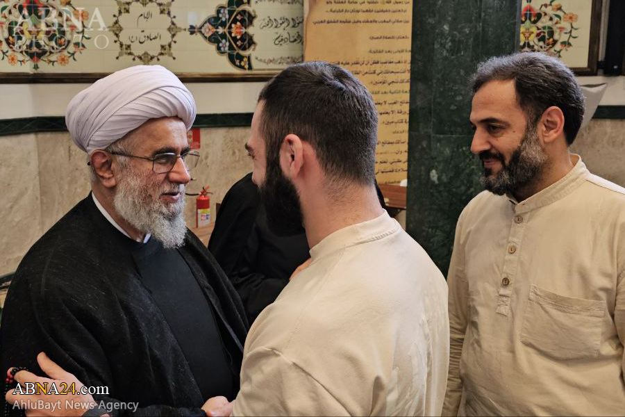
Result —
[{"label": "yellowish poster of Arabic text behind the middle man's head", "polygon": [[305,7],[306,60],[351,71],[376,103],[378,183],[408,179],[412,0],[306,0]]}]

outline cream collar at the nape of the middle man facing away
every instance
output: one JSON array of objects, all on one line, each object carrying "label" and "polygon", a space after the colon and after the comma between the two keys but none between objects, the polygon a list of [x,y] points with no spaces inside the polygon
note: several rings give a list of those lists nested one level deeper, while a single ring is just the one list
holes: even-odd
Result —
[{"label": "cream collar at the nape of the middle man facing away", "polygon": [[373,220],[352,224],[329,234],[310,249],[310,257],[315,261],[321,256],[331,254],[360,243],[371,242],[394,234],[401,229],[397,220],[391,218],[386,211]]}]

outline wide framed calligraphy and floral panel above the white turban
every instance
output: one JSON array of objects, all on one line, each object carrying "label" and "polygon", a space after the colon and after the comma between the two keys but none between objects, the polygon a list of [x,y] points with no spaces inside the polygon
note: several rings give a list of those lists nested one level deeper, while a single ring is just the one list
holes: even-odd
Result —
[{"label": "wide framed calligraphy and floral panel above the white turban", "polygon": [[303,0],[0,0],[0,82],[260,81],[302,56]]}]

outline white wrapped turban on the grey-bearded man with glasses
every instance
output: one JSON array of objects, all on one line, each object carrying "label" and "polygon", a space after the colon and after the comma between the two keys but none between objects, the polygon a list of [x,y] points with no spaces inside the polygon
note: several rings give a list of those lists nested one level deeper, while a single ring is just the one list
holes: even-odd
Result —
[{"label": "white wrapped turban on the grey-bearded man with glasses", "polygon": [[69,102],[65,124],[74,143],[91,154],[150,119],[180,117],[191,129],[197,112],[191,92],[160,65],[136,65],[104,77]]}]

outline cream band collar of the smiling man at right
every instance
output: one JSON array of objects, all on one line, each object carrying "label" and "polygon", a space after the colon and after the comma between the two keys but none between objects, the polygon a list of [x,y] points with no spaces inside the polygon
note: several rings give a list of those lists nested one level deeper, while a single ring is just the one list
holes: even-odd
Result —
[{"label": "cream band collar of the smiling man at right", "polygon": [[574,162],[574,165],[573,169],[570,170],[568,174],[544,190],[540,190],[531,197],[524,199],[522,202],[517,202],[517,199],[508,193],[508,199],[515,205],[515,213],[527,213],[535,208],[547,206],[547,204],[562,199],[562,197],[576,190],[578,186],[581,186],[590,172],[587,170],[586,165],[582,162],[579,155],[572,154],[571,160]]}]

